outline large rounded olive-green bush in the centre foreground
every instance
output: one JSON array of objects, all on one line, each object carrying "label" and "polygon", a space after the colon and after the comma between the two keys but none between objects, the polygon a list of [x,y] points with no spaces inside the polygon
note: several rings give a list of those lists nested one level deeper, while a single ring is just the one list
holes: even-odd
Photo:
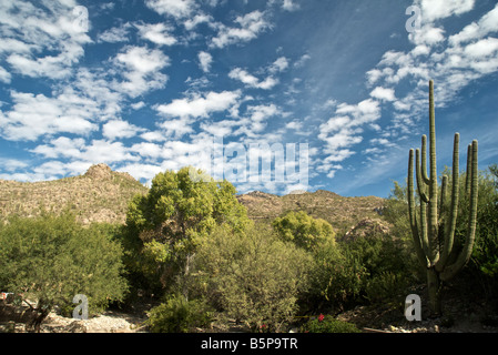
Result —
[{"label": "large rounded olive-green bush in the centre foreground", "polygon": [[307,287],[309,255],[265,230],[216,227],[195,256],[197,290],[227,317],[278,332]]}]

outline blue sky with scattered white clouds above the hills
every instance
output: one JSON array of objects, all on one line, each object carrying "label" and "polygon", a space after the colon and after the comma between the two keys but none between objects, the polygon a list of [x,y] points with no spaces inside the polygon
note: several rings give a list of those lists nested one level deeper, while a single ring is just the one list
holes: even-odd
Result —
[{"label": "blue sky with scattered white clouds above the hills", "polygon": [[296,174],[307,144],[305,183],[243,166],[240,192],[387,196],[428,132],[429,79],[438,170],[455,132],[461,166],[472,139],[480,169],[498,161],[496,1],[0,0],[0,36],[3,180],[105,163],[148,183],[218,168],[222,136],[225,166],[295,146]]}]

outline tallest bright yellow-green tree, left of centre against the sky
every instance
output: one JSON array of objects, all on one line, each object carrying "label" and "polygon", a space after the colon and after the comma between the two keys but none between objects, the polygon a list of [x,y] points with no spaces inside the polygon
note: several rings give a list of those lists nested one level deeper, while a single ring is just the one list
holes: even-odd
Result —
[{"label": "tallest bright yellow-green tree, left of centre against the sky", "polygon": [[202,171],[183,168],[159,173],[146,195],[129,205],[123,243],[126,265],[146,277],[150,288],[174,291],[187,297],[187,277],[200,241],[220,224],[243,230],[250,223],[245,207],[227,181],[215,182]]}]

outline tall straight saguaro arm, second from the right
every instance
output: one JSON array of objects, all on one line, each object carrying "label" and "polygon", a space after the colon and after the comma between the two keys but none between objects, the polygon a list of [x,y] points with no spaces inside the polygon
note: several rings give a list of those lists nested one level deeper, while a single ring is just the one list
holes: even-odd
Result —
[{"label": "tall straight saguaro arm, second from the right", "polygon": [[451,187],[451,204],[450,204],[450,211],[449,211],[449,219],[448,219],[448,227],[445,231],[445,244],[443,247],[443,255],[436,265],[438,271],[441,271],[448,261],[449,254],[453,250],[454,244],[454,237],[455,237],[455,229],[457,224],[457,215],[458,215],[458,200],[459,200],[459,191],[460,191],[460,184],[459,184],[459,174],[460,174],[460,168],[459,168],[459,143],[460,143],[460,134],[455,133],[455,141],[454,141],[454,149],[453,149],[453,187]]}]

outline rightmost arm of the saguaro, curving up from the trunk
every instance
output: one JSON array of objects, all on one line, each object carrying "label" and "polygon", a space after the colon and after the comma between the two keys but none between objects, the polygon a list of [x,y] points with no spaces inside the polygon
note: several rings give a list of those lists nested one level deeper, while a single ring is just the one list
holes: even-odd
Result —
[{"label": "rightmost arm of the saguaro, curving up from the trunk", "polygon": [[447,266],[441,273],[441,280],[447,281],[455,276],[470,258],[472,254],[474,241],[476,236],[476,221],[477,221],[477,197],[478,197],[478,162],[477,162],[477,141],[472,141],[471,144],[471,159],[470,163],[470,211],[468,230],[465,239],[464,248],[457,257],[457,261]]}]

